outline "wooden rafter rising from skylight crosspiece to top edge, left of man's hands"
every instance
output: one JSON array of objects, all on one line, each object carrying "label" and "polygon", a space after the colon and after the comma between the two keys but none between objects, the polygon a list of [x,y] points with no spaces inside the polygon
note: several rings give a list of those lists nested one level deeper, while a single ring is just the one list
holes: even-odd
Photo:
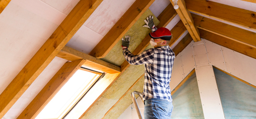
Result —
[{"label": "wooden rafter rising from skylight crosspiece to top edge, left of man's hands", "polygon": [[136,0],[89,55],[104,58],[155,0]]}]

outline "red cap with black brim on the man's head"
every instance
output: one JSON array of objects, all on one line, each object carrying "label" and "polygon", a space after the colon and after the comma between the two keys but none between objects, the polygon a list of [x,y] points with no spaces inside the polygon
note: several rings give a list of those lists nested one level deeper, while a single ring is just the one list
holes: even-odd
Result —
[{"label": "red cap with black brim on the man's head", "polygon": [[153,33],[149,33],[149,36],[153,39],[171,40],[171,31],[167,28],[161,27]]}]

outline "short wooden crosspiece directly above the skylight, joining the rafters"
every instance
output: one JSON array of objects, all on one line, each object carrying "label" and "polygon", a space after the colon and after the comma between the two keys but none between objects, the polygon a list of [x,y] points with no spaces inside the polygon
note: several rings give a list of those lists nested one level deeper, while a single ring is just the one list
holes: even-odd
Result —
[{"label": "short wooden crosspiece directly above the skylight, joining the rafters", "polygon": [[84,65],[89,66],[94,69],[99,69],[107,73],[118,73],[121,72],[121,68],[118,66],[115,66],[111,63],[108,63],[106,61],[100,60],[98,58],[95,58],[93,56],[90,56],[86,53],[80,52],[78,50],[72,49],[70,47],[65,46],[58,54],[58,57],[74,61],[78,59],[85,59],[86,62]]}]

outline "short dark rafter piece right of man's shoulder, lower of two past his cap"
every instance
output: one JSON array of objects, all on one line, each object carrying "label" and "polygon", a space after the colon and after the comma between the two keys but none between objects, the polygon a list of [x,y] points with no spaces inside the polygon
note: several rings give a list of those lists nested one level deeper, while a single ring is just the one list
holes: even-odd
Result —
[{"label": "short dark rafter piece right of man's shoulder, lower of two past his cap", "polygon": [[189,35],[189,33],[184,36],[184,38],[182,40],[180,40],[178,42],[178,44],[172,49],[175,53],[175,55],[177,56],[178,53],[180,53],[182,50],[184,50],[188,45],[189,43],[192,41],[192,38],[191,36]]}]

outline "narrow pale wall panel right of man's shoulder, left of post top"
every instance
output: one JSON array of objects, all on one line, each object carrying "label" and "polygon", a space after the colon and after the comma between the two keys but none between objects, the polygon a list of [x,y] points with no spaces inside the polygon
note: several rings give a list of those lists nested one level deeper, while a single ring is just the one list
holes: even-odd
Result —
[{"label": "narrow pale wall panel right of man's shoulder, left of post top", "polygon": [[192,42],[181,51],[182,67],[184,72],[184,77],[186,77],[189,72],[195,68],[195,60],[193,56]]}]

